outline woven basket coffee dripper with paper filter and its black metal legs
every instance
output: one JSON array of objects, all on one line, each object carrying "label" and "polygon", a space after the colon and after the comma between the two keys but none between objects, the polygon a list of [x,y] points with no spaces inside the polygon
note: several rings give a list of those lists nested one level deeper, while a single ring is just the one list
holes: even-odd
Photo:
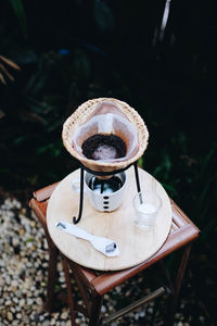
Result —
[{"label": "woven basket coffee dripper with paper filter and its black metal legs", "polygon": [[[126,155],[108,160],[86,158],[81,150],[82,142],[92,135],[101,133],[120,137],[126,143]],[[138,160],[146,149],[149,131],[138,112],[127,103],[111,98],[85,102],[64,123],[62,137],[65,148],[80,165],[79,211],[78,216],[73,217],[74,224],[77,224],[82,216],[85,171],[101,179],[103,184],[104,179],[133,165],[137,191],[141,193]],[[140,200],[142,201],[142,197]]]}]

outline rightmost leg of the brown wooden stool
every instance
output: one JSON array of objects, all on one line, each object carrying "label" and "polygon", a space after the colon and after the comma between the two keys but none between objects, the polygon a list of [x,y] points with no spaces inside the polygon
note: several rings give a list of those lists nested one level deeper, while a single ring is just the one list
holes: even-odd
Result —
[{"label": "rightmost leg of the brown wooden stool", "polygon": [[168,316],[166,318],[165,325],[173,325],[173,323],[174,323],[176,306],[177,306],[177,303],[178,303],[178,296],[179,296],[179,291],[180,291],[180,288],[181,288],[181,283],[182,283],[182,279],[183,279],[183,275],[184,275],[184,272],[186,272],[186,268],[187,268],[187,264],[188,264],[188,261],[189,261],[190,251],[191,251],[191,244],[188,244],[184,248],[184,251],[183,251],[183,254],[182,254],[182,258],[181,258],[181,262],[180,262],[180,265],[179,265],[179,269],[178,269],[178,273],[177,273],[177,278],[176,278],[175,286],[174,286],[174,291],[173,291],[171,298],[169,300]]}]

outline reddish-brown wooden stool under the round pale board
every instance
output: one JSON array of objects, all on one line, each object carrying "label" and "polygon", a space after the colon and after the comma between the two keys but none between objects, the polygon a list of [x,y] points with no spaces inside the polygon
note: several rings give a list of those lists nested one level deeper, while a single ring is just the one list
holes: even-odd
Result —
[{"label": "reddish-brown wooden stool under the round pale board", "polygon": [[[56,185],[58,183],[35,191],[34,198],[29,202],[30,208],[33,209],[36,216],[39,218],[40,223],[44,228],[46,238],[48,241],[50,256],[48,271],[48,291],[46,301],[46,308],[48,311],[52,310],[54,302],[54,284],[56,278],[56,259],[59,250],[51,240],[50,235],[48,233],[46,214],[48,200]],[[89,317],[89,326],[97,326],[101,324],[111,325],[112,321],[132,311],[141,304],[144,304],[148,301],[164,294],[166,291],[170,294],[169,304],[167,304],[168,309],[166,314],[166,325],[170,325],[173,323],[179,290],[189,260],[191,242],[197,238],[199,228],[190,221],[190,218],[180,210],[180,208],[173,200],[170,200],[170,202],[173,209],[173,224],[167,240],[153,256],[135,267],[117,272],[99,272],[80,266],[62,254],[72,325],[76,325],[75,311],[79,311],[87,317]],[[103,296],[106,292],[112,290],[114,287],[125,283],[129,278],[136,276],[138,273],[144,271],[151,265],[156,264],[157,262],[163,263],[164,258],[182,247],[183,253],[181,256],[180,265],[178,267],[175,281],[170,280],[170,276],[164,267],[167,278],[169,280],[168,288],[164,285],[155,291],[153,291],[152,293],[150,293],[149,296],[131,303],[127,308],[122,309],[120,311],[114,313],[113,315],[102,321],[101,306]],[[72,269],[73,272],[74,278],[78,285],[78,289],[82,297],[85,305],[74,304],[69,269]]]}]

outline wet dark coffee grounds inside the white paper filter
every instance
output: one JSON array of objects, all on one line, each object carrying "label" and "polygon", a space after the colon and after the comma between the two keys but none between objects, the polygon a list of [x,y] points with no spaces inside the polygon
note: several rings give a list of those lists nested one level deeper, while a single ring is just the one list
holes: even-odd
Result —
[{"label": "wet dark coffee grounds inside the white paper filter", "polygon": [[95,134],[86,139],[81,148],[84,155],[91,160],[119,159],[127,152],[124,140],[115,135]]}]

